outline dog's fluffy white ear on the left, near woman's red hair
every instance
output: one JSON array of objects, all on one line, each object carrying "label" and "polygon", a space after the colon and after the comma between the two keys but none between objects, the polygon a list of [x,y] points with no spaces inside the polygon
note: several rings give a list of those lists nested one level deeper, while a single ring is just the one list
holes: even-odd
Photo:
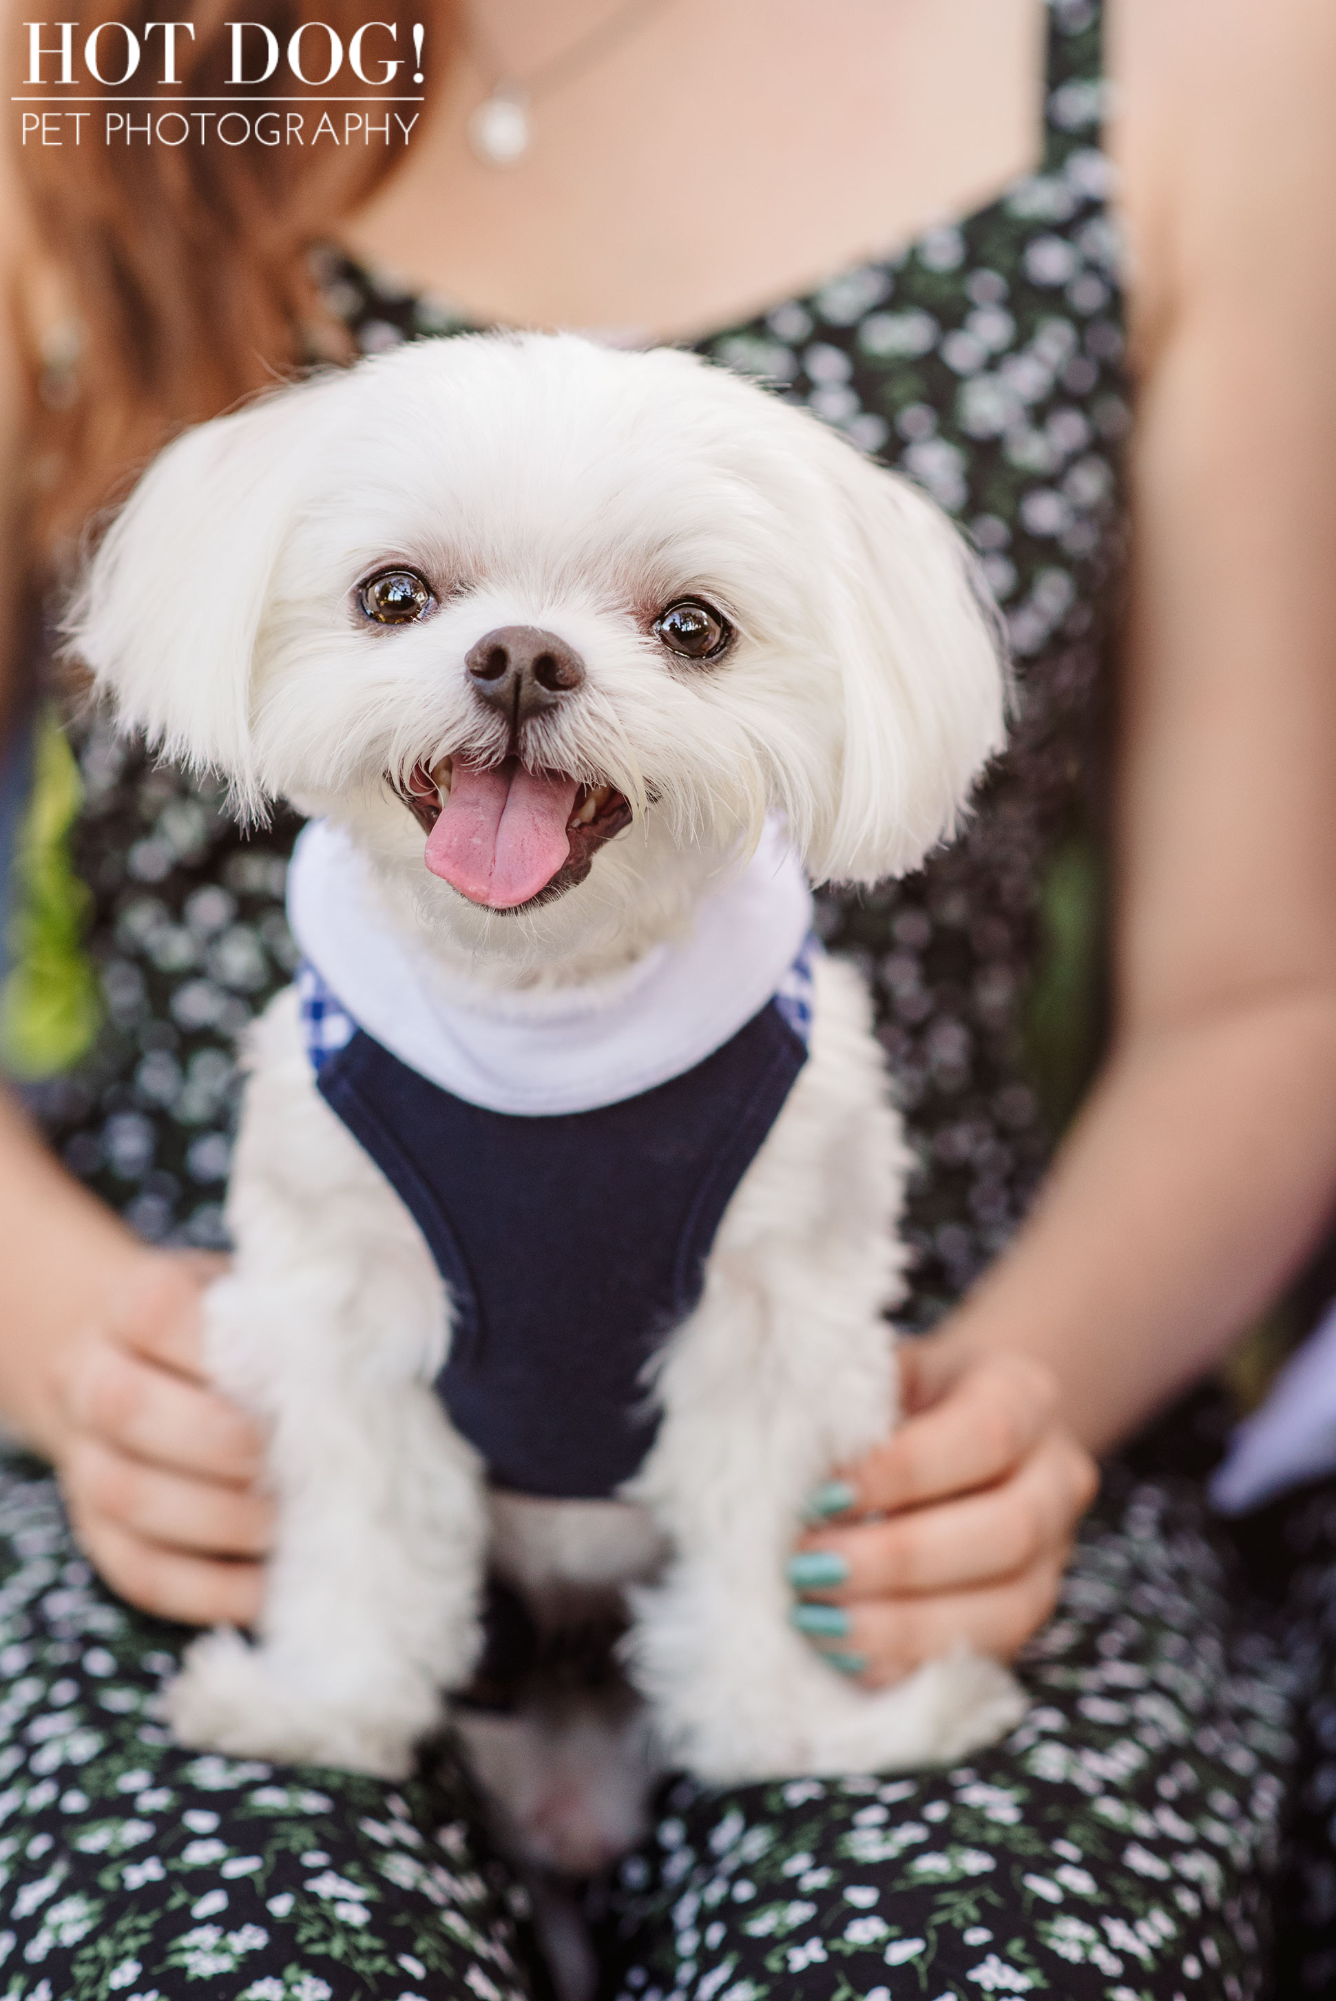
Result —
[{"label": "dog's fluffy white ear on the left, near woman's red hair", "polygon": [[64,620],[122,724],[228,778],[260,810],[250,742],[256,638],[310,476],[310,400],[266,396],[186,430],[154,458],[88,562]]}]

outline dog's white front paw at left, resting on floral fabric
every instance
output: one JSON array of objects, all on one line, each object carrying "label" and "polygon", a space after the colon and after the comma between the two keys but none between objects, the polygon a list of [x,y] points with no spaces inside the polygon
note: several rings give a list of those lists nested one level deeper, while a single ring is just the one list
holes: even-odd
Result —
[{"label": "dog's white front paw at left, resting on floral fabric", "polygon": [[[164,1691],[164,1711],[182,1745],[260,1757],[280,1765],[340,1765],[378,1779],[404,1779],[414,1741],[430,1717],[386,1715],[366,1701],[330,1701],[264,1647],[218,1629],[194,1641]],[[420,1709],[420,1705],[418,1705]]]}]

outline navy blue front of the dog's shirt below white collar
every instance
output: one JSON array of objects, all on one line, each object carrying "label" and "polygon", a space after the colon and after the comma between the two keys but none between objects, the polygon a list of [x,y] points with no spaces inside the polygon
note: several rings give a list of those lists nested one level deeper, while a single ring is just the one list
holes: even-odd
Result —
[{"label": "navy blue front of the dog's shirt below white collar", "polygon": [[[304,1013],[338,1007],[304,968]],[[646,1363],[698,1303],[728,1201],[806,1061],[772,998],[640,1097],[514,1117],[454,1097],[362,1029],[312,1037],[326,1103],[408,1205],[454,1301],[436,1391],[498,1487],[604,1499],[658,1415]]]}]

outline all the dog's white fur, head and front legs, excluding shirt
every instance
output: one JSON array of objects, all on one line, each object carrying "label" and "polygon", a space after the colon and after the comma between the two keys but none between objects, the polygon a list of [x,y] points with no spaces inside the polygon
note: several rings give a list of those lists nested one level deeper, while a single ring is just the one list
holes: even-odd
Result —
[{"label": "all the dog's white fur, head and front legs, excluding shirt", "polygon": [[[358,616],[358,580],[390,562],[434,580],[434,616]],[[736,626],[716,666],[648,630],[684,594]],[[556,630],[588,668],[524,724],[524,760],[636,814],[520,914],[428,874],[384,782],[506,754],[464,674],[502,624]],[[338,820],[416,948],[494,990],[592,982],[682,934],[766,812],[814,880],[916,866],[1004,724],[968,558],[922,494],[722,370],[572,336],[426,342],[188,432],[108,532],[72,636],[128,726],[250,812],[286,796]],[[706,1779],[950,1759],[1010,1725],[994,1663],[866,1693],[788,1623],[804,1495],[894,1417],[904,1173],[862,984],[822,962],[810,1061],[662,1351],[648,1461],[620,1507],[502,1501],[492,1529],[430,1387],[446,1291],[280,994],[250,1047],[236,1265],[208,1295],[218,1383],[272,1423],[278,1547],[258,1643],[192,1647],[182,1739],[402,1773],[474,1667],[490,1537],[530,1591],[628,1587],[662,1753]]]}]

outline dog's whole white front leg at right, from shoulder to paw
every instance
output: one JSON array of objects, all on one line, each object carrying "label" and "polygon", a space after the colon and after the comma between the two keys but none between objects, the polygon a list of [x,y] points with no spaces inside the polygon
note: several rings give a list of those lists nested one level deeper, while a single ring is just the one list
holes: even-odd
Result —
[{"label": "dog's whole white front leg at right, from shoulder to paw", "polygon": [[670,1757],[738,1783],[940,1763],[1022,1699],[964,1651],[884,1693],[790,1625],[784,1559],[810,1489],[886,1435],[904,1149],[844,966],[824,966],[808,1067],[728,1207],[706,1289],[658,1377],[664,1423],[624,1489],[674,1545],[634,1595],[630,1667]]}]

